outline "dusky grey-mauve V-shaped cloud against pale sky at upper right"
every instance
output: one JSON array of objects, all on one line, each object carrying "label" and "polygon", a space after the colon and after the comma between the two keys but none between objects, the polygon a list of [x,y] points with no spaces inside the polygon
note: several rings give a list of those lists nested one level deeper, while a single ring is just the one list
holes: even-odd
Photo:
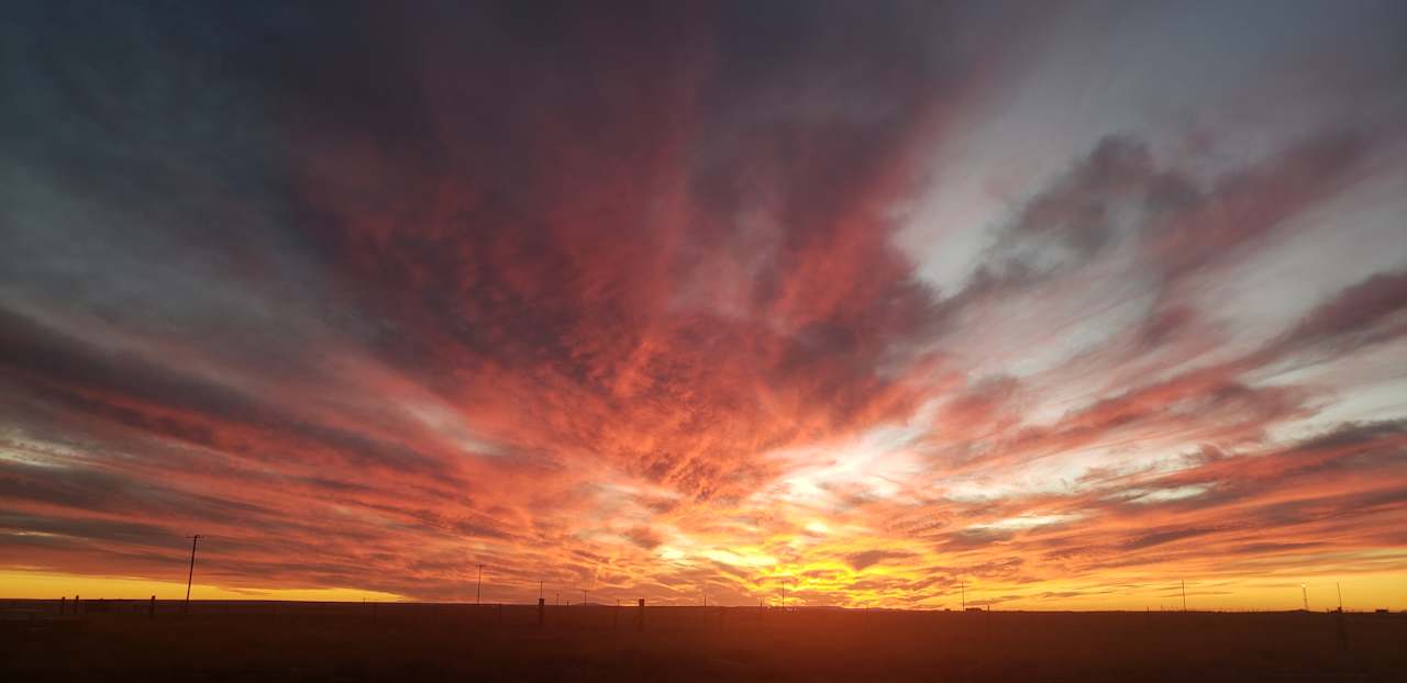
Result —
[{"label": "dusky grey-mauve V-shaped cloud against pale sky at upper right", "polygon": [[1179,282],[1237,263],[1307,207],[1361,180],[1370,135],[1311,135],[1211,184],[1161,167],[1134,138],[1106,138],[1027,200],[993,235],[983,263],[940,308],[955,313],[1068,277],[1120,245],[1155,273],[1158,306],[1145,342],[1186,316]]}]

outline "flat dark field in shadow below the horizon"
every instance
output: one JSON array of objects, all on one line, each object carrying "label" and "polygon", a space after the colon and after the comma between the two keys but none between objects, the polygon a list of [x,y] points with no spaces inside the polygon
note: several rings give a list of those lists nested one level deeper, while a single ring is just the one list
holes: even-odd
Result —
[{"label": "flat dark field in shadow below the horizon", "polygon": [[0,621],[0,680],[1407,680],[1407,618],[145,603]]}]

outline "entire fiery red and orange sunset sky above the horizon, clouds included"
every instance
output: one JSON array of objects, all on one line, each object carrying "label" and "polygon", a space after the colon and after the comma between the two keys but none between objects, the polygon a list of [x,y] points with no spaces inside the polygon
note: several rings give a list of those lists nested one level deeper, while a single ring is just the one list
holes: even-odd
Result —
[{"label": "entire fiery red and orange sunset sky above the horizon, clouds included", "polygon": [[0,597],[1407,609],[1407,3],[198,4],[0,4]]}]

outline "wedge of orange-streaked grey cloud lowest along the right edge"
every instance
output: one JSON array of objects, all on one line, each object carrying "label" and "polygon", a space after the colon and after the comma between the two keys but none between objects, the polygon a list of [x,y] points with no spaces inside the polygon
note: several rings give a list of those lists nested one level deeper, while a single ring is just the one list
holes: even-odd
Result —
[{"label": "wedge of orange-streaked grey cloud lowest along the right edge", "polygon": [[[1401,420],[1346,423],[1280,448],[1162,476],[1127,475],[1097,493],[1047,500],[1064,513],[1099,510],[1104,524],[1097,531],[1064,524],[999,540],[1006,552],[1043,548],[1048,561],[1085,571],[1157,565],[1169,557],[1235,559],[1382,544],[1379,521],[1407,509],[1407,497],[1392,483],[1407,468],[1404,437]],[[1157,492],[1180,495],[1150,497]],[[1268,530],[1286,528],[1300,540],[1265,540]],[[975,541],[985,540],[960,533],[948,542],[979,547]]]}]

